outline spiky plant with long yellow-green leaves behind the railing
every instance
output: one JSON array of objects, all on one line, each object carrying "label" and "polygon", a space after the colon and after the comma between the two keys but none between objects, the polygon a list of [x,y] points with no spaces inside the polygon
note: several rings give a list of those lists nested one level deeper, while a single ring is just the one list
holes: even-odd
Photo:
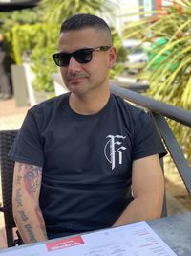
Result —
[{"label": "spiky plant with long yellow-green leaves behind the railing", "polygon": [[[126,24],[125,38],[150,42],[150,61],[140,77],[149,81],[149,95],[159,101],[191,109],[191,2],[177,0],[161,12]],[[141,9],[140,9],[141,10]],[[138,12],[140,12],[138,10]],[[163,43],[159,43],[163,41]],[[190,128],[169,121],[182,150],[191,156]]]}]

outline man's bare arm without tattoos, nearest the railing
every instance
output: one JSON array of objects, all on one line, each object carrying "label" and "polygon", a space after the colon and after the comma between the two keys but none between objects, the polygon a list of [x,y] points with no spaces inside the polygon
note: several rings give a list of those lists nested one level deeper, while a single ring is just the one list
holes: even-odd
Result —
[{"label": "man's bare arm without tattoos, nearest the railing", "polygon": [[133,162],[132,190],[134,200],[113,226],[160,217],[164,195],[164,178],[158,154]]}]

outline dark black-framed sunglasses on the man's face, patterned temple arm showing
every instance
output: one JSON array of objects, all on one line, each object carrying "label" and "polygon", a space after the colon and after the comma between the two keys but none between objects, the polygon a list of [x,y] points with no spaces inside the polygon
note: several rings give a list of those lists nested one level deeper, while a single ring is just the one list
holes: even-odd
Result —
[{"label": "dark black-framed sunglasses on the man's face, patterned temple arm showing", "polygon": [[99,46],[96,48],[84,48],[74,51],[73,53],[57,53],[54,54],[53,60],[55,64],[59,67],[66,67],[69,65],[71,57],[82,64],[88,63],[93,58],[93,52],[106,52],[111,48],[111,46]]}]

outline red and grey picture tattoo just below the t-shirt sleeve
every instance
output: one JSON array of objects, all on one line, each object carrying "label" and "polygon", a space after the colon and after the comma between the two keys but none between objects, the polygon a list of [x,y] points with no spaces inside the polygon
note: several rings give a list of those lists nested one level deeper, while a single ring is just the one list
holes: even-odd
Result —
[{"label": "red and grey picture tattoo just below the t-shirt sleeve", "polygon": [[32,196],[36,189],[39,189],[42,169],[37,166],[26,166],[24,183],[27,192]]}]

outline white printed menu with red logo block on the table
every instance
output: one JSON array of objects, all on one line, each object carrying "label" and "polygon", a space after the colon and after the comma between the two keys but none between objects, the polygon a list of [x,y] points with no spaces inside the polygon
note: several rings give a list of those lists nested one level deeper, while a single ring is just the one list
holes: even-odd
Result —
[{"label": "white printed menu with red logo block on the table", "polygon": [[176,256],[146,222],[18,246],[2,256]]}]

